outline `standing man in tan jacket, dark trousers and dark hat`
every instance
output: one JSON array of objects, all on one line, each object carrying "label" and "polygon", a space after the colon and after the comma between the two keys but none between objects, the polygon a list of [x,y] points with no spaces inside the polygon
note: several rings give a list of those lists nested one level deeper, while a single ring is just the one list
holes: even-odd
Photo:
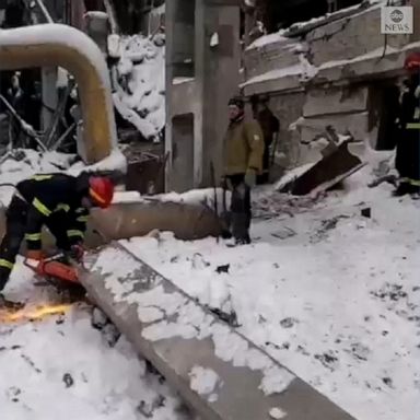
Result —
[{"label": "standing man in tan jacket, dark trousers and dark hat", "polygon": [[231,225],[235,244],[249,244],[250,188],[262,171],[264,137],[256,120],[245,120],[244,100],[229,102],[230,124],[224,137],[224,182],[232,190]]}]

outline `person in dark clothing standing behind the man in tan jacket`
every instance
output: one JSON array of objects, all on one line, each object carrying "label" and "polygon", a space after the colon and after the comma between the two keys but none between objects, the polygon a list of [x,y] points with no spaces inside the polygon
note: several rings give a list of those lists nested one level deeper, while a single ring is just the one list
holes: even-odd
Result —
[{"label": "person in dark clothing standing behind the man in tan jacket", "polygon": [[264,136],[262,173],[257,177],[257,184],[267,184],[270,179],[270,147],[277,145],[280,122],[268,107],[268,96],[253,95],[250,105],[254,118],[259,122]]}]

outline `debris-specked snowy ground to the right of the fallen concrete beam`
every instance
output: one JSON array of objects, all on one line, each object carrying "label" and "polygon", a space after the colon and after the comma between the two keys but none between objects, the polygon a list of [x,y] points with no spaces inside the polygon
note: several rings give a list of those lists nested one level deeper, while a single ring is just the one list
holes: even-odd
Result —
[{"label": "debris-specked snowy ground to the right of the fallen concrete beam", "polygon": [[[167,233],[128,246],[203,304],[233,310],[241,332],[357,419],[415,420],[420,202],[369,180],[366,168],[312,209],[256,221],[250,246]],[[273,197],[273,208],[288,200]]]}]

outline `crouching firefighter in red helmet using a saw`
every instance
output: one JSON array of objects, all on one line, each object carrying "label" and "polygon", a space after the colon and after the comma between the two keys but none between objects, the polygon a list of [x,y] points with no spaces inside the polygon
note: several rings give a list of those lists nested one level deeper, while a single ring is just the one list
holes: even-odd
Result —
[{"label": "crouching firefighter in red helmet using a saw", "polygon": [[20,182],[5,212],[5,234],[0,245],[0,306],[7,303],[2,290],[13,269],[21,243],[26,257],[40,260],[40,232],[45,225],[56,238],[57,248],[80,260],[89,211],[107,208],[114,185],[107,177],[82,173],[35,175]]}]

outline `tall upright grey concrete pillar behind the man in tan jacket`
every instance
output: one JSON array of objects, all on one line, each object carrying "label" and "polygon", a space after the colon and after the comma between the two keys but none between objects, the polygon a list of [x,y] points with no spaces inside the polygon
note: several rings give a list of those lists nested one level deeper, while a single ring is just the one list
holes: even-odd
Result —
[{"label": "tall upright grey concrete pillar behind the man in tan jacket", "polygon": [[[186,16],[187,2],[195,10]],[[211,163],[221,174],[228,102],[240,82],[240,0],[173,0],[165,19],[166,189],[185,191],[213,185]]]}]

